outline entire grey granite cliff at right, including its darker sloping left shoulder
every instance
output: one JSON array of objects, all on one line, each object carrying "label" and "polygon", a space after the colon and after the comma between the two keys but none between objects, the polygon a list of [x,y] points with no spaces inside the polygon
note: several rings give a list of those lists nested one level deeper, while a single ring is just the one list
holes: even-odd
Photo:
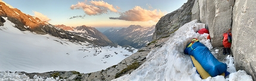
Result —
[{"label": "entire grey granite cliff at right, including its darker sloping left shoulder", "polygon": [[[186,4],[158,21],[153,39],[157,40],[170,35],[182,26],[183,22],[198,20],[210,31],[213,47],[222,47],[222,34],[230,28],[233,35],[232,54],[235,58],[236,70],[245,70],[256,80],[256,61],[254,60],[256,59],[254,55],[256,53],[256,28],[254,27],[256,1],[188,0]],[[186,11],[182,10],[184,8]]]}]

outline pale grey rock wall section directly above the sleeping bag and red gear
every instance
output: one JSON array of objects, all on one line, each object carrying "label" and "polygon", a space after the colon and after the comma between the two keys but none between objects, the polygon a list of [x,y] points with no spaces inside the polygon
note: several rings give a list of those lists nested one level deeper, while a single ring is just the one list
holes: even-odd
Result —
[{"label": "pale grey rock wall section directly above the sleeping bag and red gear", "polygon": [[234,0],[196,0],[192,8],[192,20],[204,23],[210,32],[214,47],[221,46],[222,34],[232,26]]}]

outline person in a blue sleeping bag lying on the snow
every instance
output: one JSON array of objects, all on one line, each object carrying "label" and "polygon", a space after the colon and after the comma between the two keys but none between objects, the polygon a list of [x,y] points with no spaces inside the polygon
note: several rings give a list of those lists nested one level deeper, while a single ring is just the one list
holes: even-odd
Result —
[{"label": "person in a blue sleeping bag lying on the snow", "polygon": [[227,64],[218,61],[210,50],[204,44],[200,43],[197,38],[193,38],[191,43],[185,48],[184,53],[195,57],[195,60],[201,64],[203,69],[211,77],[227,72]]}]

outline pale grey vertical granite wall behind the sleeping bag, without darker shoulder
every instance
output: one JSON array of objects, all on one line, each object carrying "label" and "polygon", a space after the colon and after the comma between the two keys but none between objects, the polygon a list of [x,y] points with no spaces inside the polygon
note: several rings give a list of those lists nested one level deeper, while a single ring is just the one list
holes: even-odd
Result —
[{"label": "pale grey vertical granite wall behind the sleeping bag, without darker shoulder", "polygon": [[254,0],[196,0],[192,20],[208,25],[214,47],[222,46],[222,34],[232,29],[232,53],[236,70],[245,70],[256,80],[256,34]]}]

